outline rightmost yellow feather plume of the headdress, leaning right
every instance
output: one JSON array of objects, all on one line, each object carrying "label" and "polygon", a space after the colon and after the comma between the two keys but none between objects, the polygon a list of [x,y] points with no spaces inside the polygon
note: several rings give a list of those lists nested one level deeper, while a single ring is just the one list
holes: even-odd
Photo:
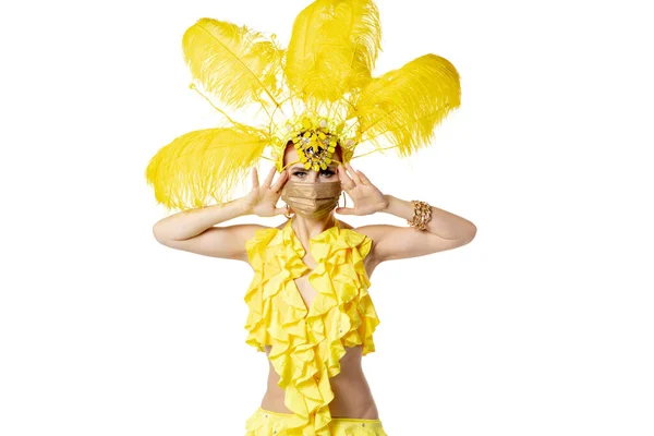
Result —
[{"label": "rightmost yellow feather plume of the headdress, leaning right", "polygon": [[348,118],[359,118],[361,142],[379,148],[385,138],[405,157],[427,146],[436,125],[460,105],[455,66],[445,58],[425,55],[374,78]]}]

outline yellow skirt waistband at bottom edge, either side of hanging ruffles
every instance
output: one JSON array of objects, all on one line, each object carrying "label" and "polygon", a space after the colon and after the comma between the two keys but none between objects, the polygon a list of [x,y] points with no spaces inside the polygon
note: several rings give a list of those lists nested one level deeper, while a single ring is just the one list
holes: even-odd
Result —
[{"label": "yellow skirt waistband at bottom edge, either side of hanging ruffles", "polygon": [[[245,436],[284,436],[284,422],[289,416],[293,415],[258,408],[245,423]],[[331,436],[388,436],[380,420],[332,417],[329,429]]]}]

